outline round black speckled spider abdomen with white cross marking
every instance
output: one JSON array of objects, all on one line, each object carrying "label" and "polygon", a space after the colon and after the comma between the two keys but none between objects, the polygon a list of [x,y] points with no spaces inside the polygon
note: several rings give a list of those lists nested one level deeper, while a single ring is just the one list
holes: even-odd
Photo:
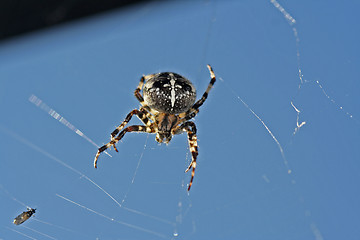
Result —
[{"label": "round black speckled spider abdomen with white cross marking", "polygon": [[143,88],[145,103],[152,109],[169,114],[189,110],[196,100],[196,89],[185,77],[163,72],[146,79]]}]

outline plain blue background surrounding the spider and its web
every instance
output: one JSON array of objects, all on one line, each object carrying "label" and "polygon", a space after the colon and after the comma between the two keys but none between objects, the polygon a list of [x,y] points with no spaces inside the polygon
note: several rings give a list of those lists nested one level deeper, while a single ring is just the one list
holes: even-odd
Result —
[{"label": "plain blue background surrounding the spider and its web", "polygon": [[[1,42],[0,239],[359,239],[360,4],[276,3],[150,2]],[[186,134],[128,134],[95,170],[97,148],[28,100],[102,145],[142,74],[200,96],[208,63],[189,194]]]}]

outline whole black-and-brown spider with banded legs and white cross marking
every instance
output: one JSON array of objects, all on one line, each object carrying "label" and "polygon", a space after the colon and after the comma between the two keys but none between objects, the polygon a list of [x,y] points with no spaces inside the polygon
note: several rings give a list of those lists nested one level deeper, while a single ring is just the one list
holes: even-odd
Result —
[{"label": "whole black-and-brown spider with banded legs and white cross marking", "polygon": [[[207,99],[216,81],[213,69],[210,65],[207,65],[207,67],[211,80],[202,97],[196,102],[196,89],[185,77],[173,72],[143,75],[134,92],[141,107],[132,110],[125,120],[111,133],[111,141],[98,149],[94,160],[94,167],[97,168],[100,153],[106,149],[112,146],[118,152],[115,144],[127,132],[156,133],[156,141],[167,144],[173,135],[181,134],[185,131],[188,134],[189,148],[192,156],[192,161],[185,170],[185,172],[188,172],[192,168],[191,179],[187,189],[189,191],[194,179],[198,156],[196,125],[189,120],[194,118],[199,112],[199,107]],[[140,93],[141,90],[143,95]],[[132,125],[124,128],[133,115],[136,115],[144,125]]]}]

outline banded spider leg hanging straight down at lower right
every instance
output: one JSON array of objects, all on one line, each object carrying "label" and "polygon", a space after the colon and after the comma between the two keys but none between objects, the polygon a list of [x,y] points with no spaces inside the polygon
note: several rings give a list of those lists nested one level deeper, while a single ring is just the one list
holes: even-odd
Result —
[{"label": "banded spider leg hanging straight down at lower right", "polygon": [[190,188],[193,183],[194,176],[195,176],[196,159],[199,154],[195,123],[190,122],[190,121],[183,123],[179,128],[174,130],[174,134],[179,134],[184,130],[187,131],[187,133],[188,133],[188,142],[189,142],[189,148],[190,148],[191,158],[192,158],[189,167],[185,170],[185,172],[188,172],[192,168],[191,179],[190,179],[190,183],[188,186],[188,191],[190,191]]}]

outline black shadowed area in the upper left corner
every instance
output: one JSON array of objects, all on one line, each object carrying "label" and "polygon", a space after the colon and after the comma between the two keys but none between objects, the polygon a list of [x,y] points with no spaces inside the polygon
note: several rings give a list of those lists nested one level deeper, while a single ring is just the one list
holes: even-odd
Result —
[{"label": "black shadowed area in the upper left corner", "polygon": [[0,1],[0,40],[146,0]]}]

